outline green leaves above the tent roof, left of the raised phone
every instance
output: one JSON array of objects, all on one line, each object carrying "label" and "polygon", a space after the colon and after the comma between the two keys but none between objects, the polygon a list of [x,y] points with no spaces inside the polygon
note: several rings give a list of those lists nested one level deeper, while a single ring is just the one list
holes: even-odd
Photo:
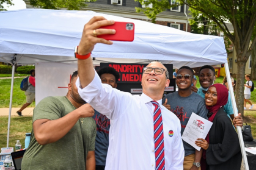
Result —
[{"label": "green leaves above the tent roof, left of the raised phone", "polygon": [[42,9],[63,9],[79,10],[87,6],[85,2],[95,2],[96,0],[29,0],[30,4]]}]

